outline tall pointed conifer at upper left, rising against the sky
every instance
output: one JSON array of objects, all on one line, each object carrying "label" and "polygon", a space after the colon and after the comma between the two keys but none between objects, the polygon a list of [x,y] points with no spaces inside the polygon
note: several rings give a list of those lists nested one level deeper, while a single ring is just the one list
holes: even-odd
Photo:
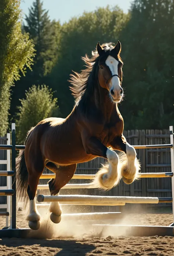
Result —
[{"label": "tall pointed conifer at upper left, rising against the sky", "polygon": [[54,24],[50,21],[48,11],[43,9],[43,3],[40,0],[33,2],[25,21],[24,29],[33,39],[36,49],[35,76],[42,78],[50,73],[57,56]]}]

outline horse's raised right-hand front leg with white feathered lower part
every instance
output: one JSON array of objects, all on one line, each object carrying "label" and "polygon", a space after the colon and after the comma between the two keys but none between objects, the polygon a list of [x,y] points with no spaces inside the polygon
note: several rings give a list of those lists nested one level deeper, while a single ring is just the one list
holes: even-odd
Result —
[{"label": "horse's raised right-hand front leg with white feathered lower part", "polygon": [[127,143],[124,136],[115,137],[110,145],[114,150],[120,150],[126,154],[119,155],[119,159],[121,163],[123,181],[126,184],[131,184],[135,179],[138,179],[138,173],[140,170],[140,164],[137,159],[135,148]]}]

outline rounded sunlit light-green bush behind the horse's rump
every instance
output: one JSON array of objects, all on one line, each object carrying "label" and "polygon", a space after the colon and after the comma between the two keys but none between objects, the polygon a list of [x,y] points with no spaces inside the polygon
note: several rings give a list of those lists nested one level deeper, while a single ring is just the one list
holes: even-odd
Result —
[{"label": "rounded sunlit light-green bush behind the horse's rump", "polygon": [[52,90],[46,85],[33,85],[21,99],[17,113],[17,142],[23,143],[30,127],[36,126],[41,120],[60,115],[57,98],[53,98]]}]

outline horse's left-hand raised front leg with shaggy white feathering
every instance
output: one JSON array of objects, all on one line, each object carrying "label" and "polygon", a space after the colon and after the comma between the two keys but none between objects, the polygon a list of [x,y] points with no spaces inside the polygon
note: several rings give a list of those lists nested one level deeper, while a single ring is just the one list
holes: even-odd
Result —
[{"label": "horse's left-hand raised front leg with shaggy white feathering", "polygon": [[84,138],[84,149],[87,154],[92,154],[97,157],[108,159],[109,164],[105,164],[96,173],[91,186],[98,187],[104,190],[112,189],[116,186],[121,178],[121,165],[119,157],[115,151],[110,150],[101,143],[97,138]]}]

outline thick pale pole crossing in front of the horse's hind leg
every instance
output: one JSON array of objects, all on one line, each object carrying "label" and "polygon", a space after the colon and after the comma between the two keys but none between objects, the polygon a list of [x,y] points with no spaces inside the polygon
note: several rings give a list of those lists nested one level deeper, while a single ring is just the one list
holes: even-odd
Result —
[{"label": "thick pale pole crossing in front of the horse's hind leg", "polygon": [[[123,203],[157,204],[159,203],[159,198],[158,197],[131,197],[131,196],[88,196],[88,195],[44,196],[40,194],[37,196],[37,201],[38,202],[84,201],[84,202],[112,202],[112,203],[123,202]],[[168,198],[160,197],[160,203],[166,202],[166,201],[168,202]]]}]

